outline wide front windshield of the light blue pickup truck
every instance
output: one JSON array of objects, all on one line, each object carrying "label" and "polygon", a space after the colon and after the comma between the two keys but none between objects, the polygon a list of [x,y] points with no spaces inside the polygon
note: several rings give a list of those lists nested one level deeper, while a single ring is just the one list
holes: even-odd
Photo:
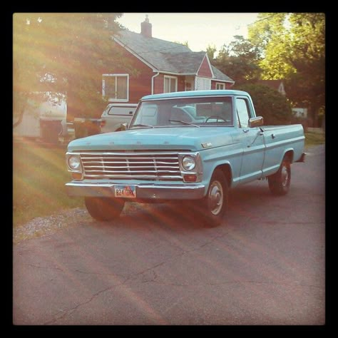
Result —
[{"label": "wide front windshield of the light blue pickup truck", "polygon": [[232,126],[232,97],[143,101],[129,128]]}]

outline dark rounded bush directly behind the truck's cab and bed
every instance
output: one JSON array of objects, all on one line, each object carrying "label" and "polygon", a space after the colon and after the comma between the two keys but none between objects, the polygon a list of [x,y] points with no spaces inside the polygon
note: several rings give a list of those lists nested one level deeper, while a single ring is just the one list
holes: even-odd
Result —
[{"label": "dark rounded bush directly behind the truck's cab and bed", "polygon": [[265,126],[289,124],[292,120],[290,102],[278,91],[265,85],[252,83],[236,86],[250,93],[257,116],[264,118]]}]

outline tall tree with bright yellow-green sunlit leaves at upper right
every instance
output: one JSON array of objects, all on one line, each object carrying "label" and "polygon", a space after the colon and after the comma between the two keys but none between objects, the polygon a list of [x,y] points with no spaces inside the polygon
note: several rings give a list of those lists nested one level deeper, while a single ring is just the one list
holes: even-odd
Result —
[{"label": "tall tree with bright yellow-green sunlit leaves at upper right", "polygon": [[309,108],[315,123],[325,105],[325,15],[260,14],[249,39],[260,48],[262,78],[284,79],[292,103]]}]

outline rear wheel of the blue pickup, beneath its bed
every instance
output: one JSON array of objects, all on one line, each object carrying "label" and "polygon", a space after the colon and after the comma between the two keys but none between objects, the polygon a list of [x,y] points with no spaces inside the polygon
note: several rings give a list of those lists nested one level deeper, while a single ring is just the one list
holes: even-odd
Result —
[{"label": "rear wheel of the blue pickup, beneath its bed", "polygon": [[288,156],[285,156],[278,169],[277,173],[267,177],[270,191],[274,195],[285,195],[290,190],[291,183],[291,161]]}]

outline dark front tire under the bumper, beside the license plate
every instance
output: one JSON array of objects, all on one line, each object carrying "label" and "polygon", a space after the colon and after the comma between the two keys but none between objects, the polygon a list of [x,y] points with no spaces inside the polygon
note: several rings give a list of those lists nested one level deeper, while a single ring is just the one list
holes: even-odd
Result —
[{"label": "dark front tire under the bumper, beside the license plate", "polygon": [[85,198],[89,214],[98,221],[118,218],[123,210],[124,203],[124,200],[117,198]]}]

